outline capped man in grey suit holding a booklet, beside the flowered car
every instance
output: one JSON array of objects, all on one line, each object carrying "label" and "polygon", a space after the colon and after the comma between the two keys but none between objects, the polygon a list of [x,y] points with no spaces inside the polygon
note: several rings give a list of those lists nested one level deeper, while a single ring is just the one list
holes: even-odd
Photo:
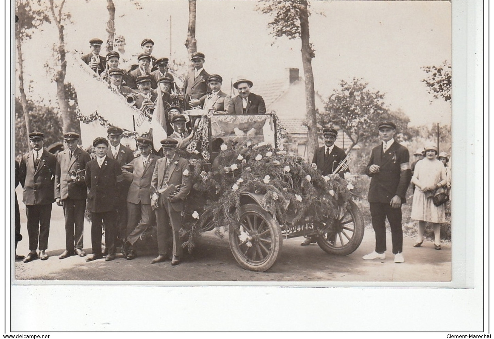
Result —
[{"label": "capped man in grey suit holding a booklet, beside the flowered car", "polygon": [[[185,198],[190,192],[189,163],[176,153],[178,141],[167,138],[161,141],[165,156],[158,159],[151,180],[151,206],[156,212],[158,232],[158,256],[151,263],[162,262],[169,257],[169,243],[173,243],[171,264],[180,263],[182,241],[179,231]],[[170,239],[171,238],[171,239]]]}]

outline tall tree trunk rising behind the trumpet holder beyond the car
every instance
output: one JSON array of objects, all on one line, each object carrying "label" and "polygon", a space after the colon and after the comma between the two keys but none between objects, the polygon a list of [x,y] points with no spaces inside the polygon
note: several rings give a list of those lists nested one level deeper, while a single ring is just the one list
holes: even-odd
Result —
[{"label": "tall tree trunk rising behind the trumpet holder beyond the car", "polygon": [[302,65],[304,68],[305,78],[305,103],[307,106],[307,128],[308,131],[308,152],[309,158],[319,147],[317,139],[317,118],[316,118],[316,99],[314,91],[314,73],[312,72],[312,58],[314,50],[309,41],[309,12],[307,1],[300,1],[299,18],[300,18],[300,40],[302,41]]}]

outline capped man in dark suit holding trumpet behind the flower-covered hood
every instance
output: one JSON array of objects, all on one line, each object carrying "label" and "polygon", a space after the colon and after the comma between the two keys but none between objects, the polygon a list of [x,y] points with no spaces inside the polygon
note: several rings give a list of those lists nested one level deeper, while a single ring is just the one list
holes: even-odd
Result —
[{"label": "capped man in dark suit holding trumpet behind the flower-covered hood", "polygon": [[[346,158],[345,151],[336,146],[334,142],[338,136],[338,131],[334,128],[324,128],[324,146],[319,147],[314,152],[312,163],[317,165],[317,169],[321,171],[322,175],[328,175],[334,173],[338,165]],[[338,174],[341,178],[345,177],[345,172],[349,172],[349,169],[338,170]],[[316,236],[309,236],[301,243],[301,246],[307,246],[316,243]]]}]

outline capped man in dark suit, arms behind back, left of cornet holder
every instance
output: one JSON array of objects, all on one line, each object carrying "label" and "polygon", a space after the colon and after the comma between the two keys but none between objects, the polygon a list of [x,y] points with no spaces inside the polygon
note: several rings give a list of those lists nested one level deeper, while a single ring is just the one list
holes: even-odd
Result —
[{"label": "capped man in dark suit, arms behind back, left of cornet holder", "polygon": [[56,157],[43,149],[44,134],[29,133],[32,152],[22,156],[20,164],[20,183],[24,187],[22,194],[29,235],[29,254],[24,262],[38,257],[38,240],[40,259],[48,259],[45,253],[48,248],[50,232],[51,204],[55,201],[55,168]]}]

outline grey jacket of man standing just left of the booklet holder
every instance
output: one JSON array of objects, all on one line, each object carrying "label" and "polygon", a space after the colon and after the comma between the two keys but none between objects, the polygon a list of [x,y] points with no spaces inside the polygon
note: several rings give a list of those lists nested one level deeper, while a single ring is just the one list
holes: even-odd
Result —
[{"label": "grey jacket of man standing just left of the booklet holder", "polygon": [[122,166],[125,180],[131,181],[127,194],[127,202],[132,204],[151,204],[151,179],[153,178],[156,161],[159,156],[150,154],[146,166],[142,157],[135,158]]}]

